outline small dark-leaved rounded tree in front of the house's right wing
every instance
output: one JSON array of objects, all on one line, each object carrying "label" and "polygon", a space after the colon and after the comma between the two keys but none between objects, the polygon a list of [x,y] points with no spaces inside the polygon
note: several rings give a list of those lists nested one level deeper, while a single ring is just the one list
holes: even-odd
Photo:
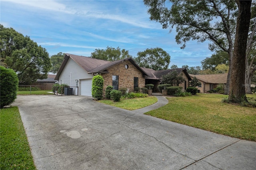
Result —
[{"label": "small dark-leaved rounded tree in front of the house's right wing", "polygon": [[161,78],[161,84],[170,84],[171,86],[179,86],[180,83],[185,81],[185,79],[181,74],[178,74],[177,71],[169,72],[166,75],[163,75]]}]

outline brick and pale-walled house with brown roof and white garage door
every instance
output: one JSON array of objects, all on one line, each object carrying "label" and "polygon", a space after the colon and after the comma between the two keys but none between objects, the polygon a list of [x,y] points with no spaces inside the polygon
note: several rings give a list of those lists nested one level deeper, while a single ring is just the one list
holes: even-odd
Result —
[{"label": "brick and pale-walled house with brown roof and white garage door", "polygon": [[[113,89],[125,87],[131,92],[135,87],[145,87],[145,84],[159,85],[161,75],[172,70],[154,71],[142,68],[131,57],[111,62],[66,53],[55,80],[59,84],[68,84],[73,88],[74,95],[92,96],[92,78],[97,74],[104,79],[103,89],[112,85]],[[186,89],[191,78],[186,69],[179,71],[186,77],[183,85]]]}]

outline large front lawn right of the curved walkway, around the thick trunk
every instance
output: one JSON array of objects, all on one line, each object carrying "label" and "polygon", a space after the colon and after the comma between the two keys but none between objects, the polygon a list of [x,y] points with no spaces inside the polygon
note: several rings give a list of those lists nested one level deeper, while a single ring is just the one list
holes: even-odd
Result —
[{"label": "large front lawn right of the curved walkway, around the thick trunk", "polygon": [[[254,97],[256,95],[246,95]],[[235,138],[256,141],[256,108],[221,103],[225,95],[171,97],[169,103],[146,115]]]}]

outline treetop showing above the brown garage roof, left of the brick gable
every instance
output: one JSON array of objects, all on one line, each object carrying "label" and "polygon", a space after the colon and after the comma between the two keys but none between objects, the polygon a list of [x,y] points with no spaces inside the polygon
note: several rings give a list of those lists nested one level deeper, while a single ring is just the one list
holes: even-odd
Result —
[{"label": "treetop showing above the brown garage roof, left of the brick gable", "polygon": [[106,61],[116,61],[119,59],[124,59],[127,57],[132,57],[129,54],[128,50],[120,49],[119,47],[107,47],[106,49],[95,49],[93,53],[91,53],[92,58],[102,59]]}]

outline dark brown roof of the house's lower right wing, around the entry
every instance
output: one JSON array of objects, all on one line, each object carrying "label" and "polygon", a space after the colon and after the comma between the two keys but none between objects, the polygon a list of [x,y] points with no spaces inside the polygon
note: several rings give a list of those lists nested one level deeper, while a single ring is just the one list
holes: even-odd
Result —
[{"label": "dark brown roof of the house's lower right wing, around the entry", "polygon": [[153,69],[144,68],[141,67],[150,77],[147,77],[146,79],[157,79],[160,80],[162,78],[162,75],[166,75],[172,71],[177,71],[178,74],[182,73],[184,71],[185,75],[188,77],[188,80],[192,80],[189,76],[186,68],[178,68],[178,69],[167,69],[167,70],[158,70],[155,71]]}]

